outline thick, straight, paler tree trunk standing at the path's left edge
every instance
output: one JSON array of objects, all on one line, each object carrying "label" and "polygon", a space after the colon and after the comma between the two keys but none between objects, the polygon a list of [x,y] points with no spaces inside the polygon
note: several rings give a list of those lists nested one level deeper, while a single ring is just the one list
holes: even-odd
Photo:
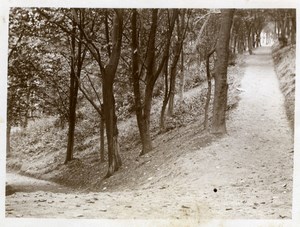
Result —
[{"label": "thick, straight, paler tree trunk standing at the path's left edge", "polygon": [[232,25],[234,10],[221,10],[221,28],[216,44],[217,61],[215,66],[215,92],[213,103],[213,117],[212,117],[212,133],[225,134],[226,133],[226,108],[227,108],[227,66],[229,55],[229,40],[230,28]]}]

